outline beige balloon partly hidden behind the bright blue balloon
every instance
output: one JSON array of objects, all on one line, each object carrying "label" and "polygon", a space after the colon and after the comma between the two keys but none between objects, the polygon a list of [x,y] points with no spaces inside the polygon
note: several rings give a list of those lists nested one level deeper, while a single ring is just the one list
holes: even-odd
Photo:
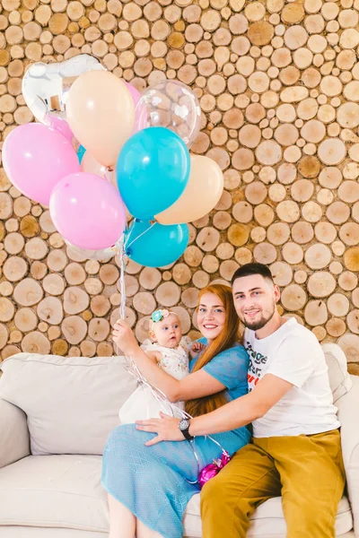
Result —
[{"label": "beige balloon partly hidden behind the bright blue balloon", "polygon": [[218,164],[202,155],[191,155],[188,184],[180,198],[155,215],[161,224],[197,221],[209,213],[223,193],[223,173]]}]

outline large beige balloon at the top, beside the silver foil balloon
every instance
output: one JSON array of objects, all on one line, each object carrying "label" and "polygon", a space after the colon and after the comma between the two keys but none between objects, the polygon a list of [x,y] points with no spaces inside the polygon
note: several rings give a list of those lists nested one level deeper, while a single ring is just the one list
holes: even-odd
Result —
[{"label": "large beige balloon at the top, beside the silver foil balloon", "polygon": [[134,101],[124,82],[109,71],[81,74],[68,93],[66,114],[86,151],[100,164],[114,167],[135,125]]}]

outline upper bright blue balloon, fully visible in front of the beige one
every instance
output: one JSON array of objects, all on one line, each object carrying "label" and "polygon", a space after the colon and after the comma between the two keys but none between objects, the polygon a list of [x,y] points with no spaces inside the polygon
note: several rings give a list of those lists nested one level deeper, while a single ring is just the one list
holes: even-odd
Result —
[{"label": "upper bright blue balloon, fully visible in front of the beige one", "polygon": [[127,140],[118,156],[118,190],[129,213],[143,221],[174,204],[185,190],[189,152],[178,134],[148,127]]}]

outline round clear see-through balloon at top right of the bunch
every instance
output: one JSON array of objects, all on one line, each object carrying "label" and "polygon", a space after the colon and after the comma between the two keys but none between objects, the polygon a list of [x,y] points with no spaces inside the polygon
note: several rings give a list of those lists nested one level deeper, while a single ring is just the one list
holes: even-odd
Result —
[{"label": "round clear see-through balloon at top right of the bunch", "polygon": [[146,127],[167,127],[178,134],[188,148],[201,126],[201,108],[195,93],[182,82],[162,81],[142,93],[136,116]]}]

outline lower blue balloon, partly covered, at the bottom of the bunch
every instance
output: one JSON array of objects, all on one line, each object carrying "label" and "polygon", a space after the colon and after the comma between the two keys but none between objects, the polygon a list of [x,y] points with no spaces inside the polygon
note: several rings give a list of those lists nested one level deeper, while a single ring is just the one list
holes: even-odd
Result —
[{"label": "lower blue balloon, partly covered, at the bottom of the bunch", "polygon": [[182,256],[188,239],[187,224],[163,226],[135,219],[125,234],[125,251],[137,264],[162,267]]}]

